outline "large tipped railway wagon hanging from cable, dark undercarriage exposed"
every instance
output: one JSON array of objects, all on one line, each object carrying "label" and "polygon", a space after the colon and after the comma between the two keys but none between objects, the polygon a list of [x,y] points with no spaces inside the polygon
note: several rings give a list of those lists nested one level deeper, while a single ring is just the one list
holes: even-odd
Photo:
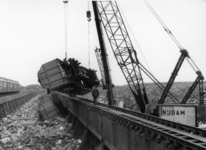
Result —
[{"label": "large tipped railway wagon hanging from cable, dark undercarriage exposed", "polygon": [[54,59],[43,64],[38,72],[38,81],[43,88],[71,95],[85,95],[93,86],[99,85],[96,71],[80,66],[70,58]]}]

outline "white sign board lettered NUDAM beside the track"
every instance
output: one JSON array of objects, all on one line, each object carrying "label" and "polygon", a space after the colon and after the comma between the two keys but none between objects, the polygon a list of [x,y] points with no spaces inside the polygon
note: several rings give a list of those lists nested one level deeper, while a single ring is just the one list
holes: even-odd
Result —
[{"label": "white sign board lettered NUDAM beside the track", "polygon": [[195,107],[161,106],[160,117],[166,120],[196,126]]}]

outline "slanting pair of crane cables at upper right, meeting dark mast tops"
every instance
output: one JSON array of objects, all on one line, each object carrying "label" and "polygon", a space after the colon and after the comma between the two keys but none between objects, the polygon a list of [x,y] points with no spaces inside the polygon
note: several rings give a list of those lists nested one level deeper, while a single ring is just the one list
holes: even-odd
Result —
[{"label": "slanting pair of crane cables at upper right, meeting dark mast tops", "polygon": [[[164,28],[164,30],[169,34],[169,36],[172,38],[172,40],[175,42],[175,44],[180,48],[180,50],[184,50],[184,48],[180,45],[180,43],[177,41],[177,39],[175,38],[175,36],[172,34],[172,32],[169,30],[169,28],[165,25],[165,23],[161,20],[161,18],[158,16],[158,14],[155,12],[155,10],[152,8],[152,6],[149,4],[149,2],[147,0],[144,1],[145,4],[148,6],[148,8],[151,10],[151,12],[154,14],[154,16],[157,18],[157,20],[159,21],[159,23],[162,25],[162,27]],[[191,56],[188,55],[188,57],[186,57],[187,62],[189,63],[189,65],[192,67],[192,69],[195,71],[195,73],[199,72],[200,69],[198,68],[198,66],[195,64],[195,62],[193,61],[193,59],[191,58]]]}]

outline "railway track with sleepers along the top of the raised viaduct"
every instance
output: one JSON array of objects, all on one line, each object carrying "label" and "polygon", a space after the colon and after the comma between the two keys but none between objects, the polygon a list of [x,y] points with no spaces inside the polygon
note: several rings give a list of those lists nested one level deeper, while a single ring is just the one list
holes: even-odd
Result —
[{"label": "railway track with sleepers along the top of the raised viaduct", "polygon": [[[66,94],[58,93],[60,98],[70,98]],[[89,105],[104,118],[112,120],[125,128],[137,133],[139,136],[155,141],[172,150],[205,150],[206,131],[164,120],[155,116],[138,113],[132,110],[107,106],[98,103],[94,106],[92,101],[83,98],[74,98],[75,101]]]}]

